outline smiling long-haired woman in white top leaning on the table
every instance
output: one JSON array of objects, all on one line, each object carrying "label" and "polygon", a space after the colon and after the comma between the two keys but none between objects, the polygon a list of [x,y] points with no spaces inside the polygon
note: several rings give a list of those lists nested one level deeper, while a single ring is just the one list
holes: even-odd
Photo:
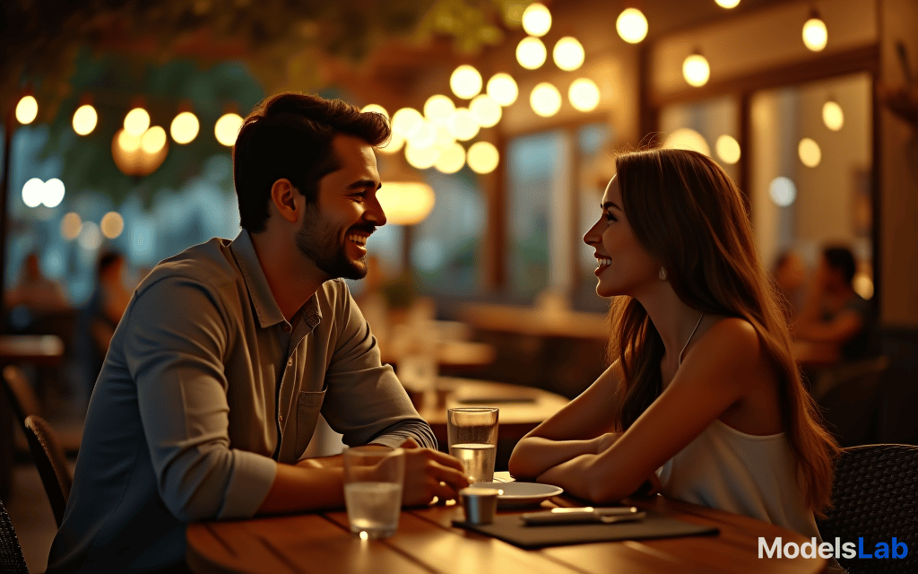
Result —
[{"label": "smiling long-haired woman in white top leaning on the table", "polygon": [[670,498],[819,538],[838,446],[800,382],[742,195],[710,158],[625,153],[584,237],[612,365],[522,438],[517,478],[597,504]]}]

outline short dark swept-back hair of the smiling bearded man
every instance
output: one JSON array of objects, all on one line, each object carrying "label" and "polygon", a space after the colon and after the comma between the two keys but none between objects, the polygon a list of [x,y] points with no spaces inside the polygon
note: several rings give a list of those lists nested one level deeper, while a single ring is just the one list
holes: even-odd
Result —
[{"label": "short dark swept-back hair of the smiling bearded man", "polygon": [[319,180],[339,168],[331,148],[334,136],[378,146],[389,133],[385,116],[339,99],[296,93],[263,99],[242,123],[232,152],[242,228],[264,231],[271,186],[278,179],[289,179],[308,203],[315,203]]}]

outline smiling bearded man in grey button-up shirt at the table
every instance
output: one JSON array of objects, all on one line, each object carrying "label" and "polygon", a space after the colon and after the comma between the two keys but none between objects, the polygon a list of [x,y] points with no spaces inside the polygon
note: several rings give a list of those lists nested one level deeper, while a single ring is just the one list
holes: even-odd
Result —
[{"label": "smiling bearded man in grey button-up shirt at the table", "polygon": [[118,324],[86,414],[49,572],[185,568],[185,525],[343,506],[341,457],[304,453],[319,414],[348,445],[407,446],[403,502],[453,498],[436,451],[341,277],[386,224],[386,119],[282,94],[233,150],[241,227],[162,261]]}]

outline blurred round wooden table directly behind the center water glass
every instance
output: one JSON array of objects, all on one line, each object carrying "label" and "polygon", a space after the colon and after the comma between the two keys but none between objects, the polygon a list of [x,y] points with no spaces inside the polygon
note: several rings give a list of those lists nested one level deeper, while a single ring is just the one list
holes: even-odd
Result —
[{"label": "blurred round wooden table directly behind the center water glass", "polygon": [[[435,400],[431,400],[433,398]],[[569,401],[541,388],[521,387],[474,378],[440,377],[437,392],[427,393],[416,405],[430,423],[437,442],[446,445],[446,410],[454,407],[498,407],[501,440],[520,440]]]}]

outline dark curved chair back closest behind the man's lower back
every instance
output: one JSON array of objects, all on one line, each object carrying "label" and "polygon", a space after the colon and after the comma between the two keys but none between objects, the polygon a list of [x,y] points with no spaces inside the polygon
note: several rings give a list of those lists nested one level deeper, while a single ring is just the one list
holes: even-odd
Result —
[{"label": "dark curved chair back closest behind the man's lower back", "polygon": [[25,426],[28,450],[39,469],[41,483],[48,494],[51,511],[54,512],[54,521],[60,527],[63,512],[67,509],[67,500],[70,499],[73,477],[70,476],[57,436],[48,422],[33,414],[26,418]]}]

